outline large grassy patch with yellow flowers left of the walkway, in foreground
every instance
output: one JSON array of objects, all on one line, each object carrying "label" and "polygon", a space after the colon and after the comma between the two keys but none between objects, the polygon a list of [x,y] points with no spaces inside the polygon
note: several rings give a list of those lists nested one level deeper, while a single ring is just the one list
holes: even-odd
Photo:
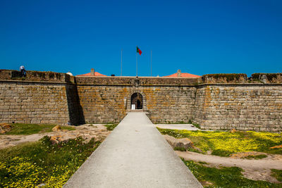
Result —
[{"label": "large grassy patch with yellow flowers left of the walkway, in foreground", "polygon": [[62,187],[99,146],[81,137],[52,145],[49,137],[0,150],[0,187]]}]

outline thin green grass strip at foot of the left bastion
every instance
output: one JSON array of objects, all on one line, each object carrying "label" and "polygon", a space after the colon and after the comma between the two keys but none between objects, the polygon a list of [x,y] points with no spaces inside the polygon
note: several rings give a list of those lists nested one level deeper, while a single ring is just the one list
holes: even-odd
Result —
[{"label": "thin green grass strip at foot of the left bastion", "polygon": [[[5,134],[11,135],[30,135],[42,132],[52,132],[52,128],[56,125],[49,124],[24,124],[24,123],[14,123],[11,124],[12,129]],[[73,127],[61,126],[62,130],[75,130]]]}]

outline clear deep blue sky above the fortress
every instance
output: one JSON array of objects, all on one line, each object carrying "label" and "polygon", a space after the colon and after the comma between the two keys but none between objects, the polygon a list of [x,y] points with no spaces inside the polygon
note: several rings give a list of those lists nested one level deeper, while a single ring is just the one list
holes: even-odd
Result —
[{"label": "clear deep blue sky above the fortress", "polygon": [[281,0],[0,1],[0,69],[281,73]]}]

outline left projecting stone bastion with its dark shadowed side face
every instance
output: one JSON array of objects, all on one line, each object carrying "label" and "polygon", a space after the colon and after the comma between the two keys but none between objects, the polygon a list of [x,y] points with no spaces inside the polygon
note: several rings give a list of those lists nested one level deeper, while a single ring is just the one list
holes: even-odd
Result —
[{"label": "left projecting stone bastion with its dark shadowed side face", "polygon": [[0,123],[78,123],[77,93],[66,74],[0,70]]}]

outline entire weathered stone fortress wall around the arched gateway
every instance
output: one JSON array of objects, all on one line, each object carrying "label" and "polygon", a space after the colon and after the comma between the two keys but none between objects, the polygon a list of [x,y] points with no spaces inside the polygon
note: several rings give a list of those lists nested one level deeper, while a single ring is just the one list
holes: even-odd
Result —
[{"label": "entire weathered stone fortress wall around the arched gateway", "polygon": [[282,131],[281,74],[202,78],[72,77],[0,70],[0,123],[117,123],[142,94],[153,123],[192,120],[204,129]]}]

